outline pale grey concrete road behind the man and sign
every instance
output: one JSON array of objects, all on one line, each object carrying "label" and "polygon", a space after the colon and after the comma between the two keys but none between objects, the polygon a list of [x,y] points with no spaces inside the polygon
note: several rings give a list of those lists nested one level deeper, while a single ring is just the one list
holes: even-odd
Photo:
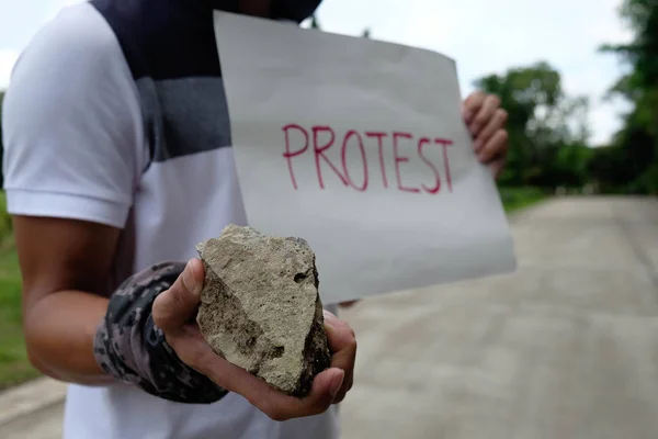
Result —
[{"label": "pale grey concrete road behind the man and sign", "polygon": [[[345,439],[658,437],[658,201],[552,200],[511,226],[517,273],[343,313],[359,339]],[[60,417],[0,437],[54,439]]]}]

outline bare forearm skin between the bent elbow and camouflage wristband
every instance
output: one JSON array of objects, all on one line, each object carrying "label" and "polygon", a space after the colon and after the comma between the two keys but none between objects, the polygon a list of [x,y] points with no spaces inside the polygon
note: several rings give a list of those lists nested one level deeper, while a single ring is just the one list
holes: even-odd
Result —
[{"label": "bare forearm skin between the bent elbow and camouflage wristband", "polygon": [[32,363],[55,379],[84,385],[115,380],[98,364],[94,335],[109,300],[80,291],[48,294],[26,309],[25,339]]}]

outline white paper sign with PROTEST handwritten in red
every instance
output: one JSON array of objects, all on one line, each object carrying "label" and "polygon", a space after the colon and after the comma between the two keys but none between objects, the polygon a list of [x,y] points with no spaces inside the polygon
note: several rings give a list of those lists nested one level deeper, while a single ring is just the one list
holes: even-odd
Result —
[{"label": "white paper sign with PROTEST handwritten in red", "polygon": [[251,226],[305,238],[326,304],[514,270],[455,63],[215,13]]}]

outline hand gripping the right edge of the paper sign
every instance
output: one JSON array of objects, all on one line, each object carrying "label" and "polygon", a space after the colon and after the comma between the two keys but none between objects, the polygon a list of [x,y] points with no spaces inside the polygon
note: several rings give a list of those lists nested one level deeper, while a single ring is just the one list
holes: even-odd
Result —
[{"label": "hand gripping the right edge of the paper sign", "polygon": [[508,113],[500,108],[500,99],[476,91],[464,101],[462,112],[475,139],[477,158],[498,177],[504,167],[509,139],[504,128]]}]

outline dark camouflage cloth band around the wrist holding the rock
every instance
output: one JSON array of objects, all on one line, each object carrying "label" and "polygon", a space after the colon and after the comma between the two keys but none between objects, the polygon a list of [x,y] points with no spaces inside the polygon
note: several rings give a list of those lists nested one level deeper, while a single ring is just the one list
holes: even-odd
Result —
[{"label": "dark camouflage cloth band around the wrist holding the rock", "polygon": [[169,289],[184,268],[180,262],[160,263],[124,281],[97,330],[94,356],[105,372],[151,395],[209,404],[227,392],[183,363],[151,316],[158,294]]}]

